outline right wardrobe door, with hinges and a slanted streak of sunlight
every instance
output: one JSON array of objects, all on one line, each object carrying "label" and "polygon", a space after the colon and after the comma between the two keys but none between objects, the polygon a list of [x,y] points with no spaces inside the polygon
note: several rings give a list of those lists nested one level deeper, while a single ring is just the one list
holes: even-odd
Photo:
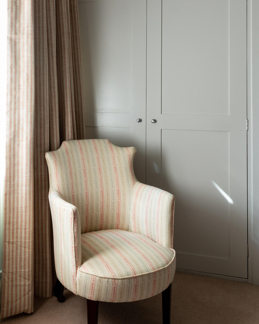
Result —
[{"label": "right wardrobe door, with hinges and a slanted streak of sunlight", "polygon": [[147,183],[175,195],[177,268],[247,278],[246,118],[246,1],[148,0]]}]

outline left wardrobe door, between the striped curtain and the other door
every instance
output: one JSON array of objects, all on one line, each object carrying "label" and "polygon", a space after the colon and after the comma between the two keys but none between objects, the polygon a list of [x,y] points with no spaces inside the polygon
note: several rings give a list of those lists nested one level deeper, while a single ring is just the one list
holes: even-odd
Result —
[{"label": "left wardrobe door, between the striped curtain and the other door", "polygon": [[135,146],[145,182],[146,1],[78,0],[78,10],[86,138]]}]

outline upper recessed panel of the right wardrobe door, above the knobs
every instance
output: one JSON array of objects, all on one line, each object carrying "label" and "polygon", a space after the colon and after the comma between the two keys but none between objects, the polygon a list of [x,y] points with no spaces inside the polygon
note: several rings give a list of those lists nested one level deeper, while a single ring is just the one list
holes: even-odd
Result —
[{"label": "upper recessed panel of the right wardrobe door, above the knobs", "polygon": [[229,114],[229,18],[226,0],[163,1],[163,114]]}]

